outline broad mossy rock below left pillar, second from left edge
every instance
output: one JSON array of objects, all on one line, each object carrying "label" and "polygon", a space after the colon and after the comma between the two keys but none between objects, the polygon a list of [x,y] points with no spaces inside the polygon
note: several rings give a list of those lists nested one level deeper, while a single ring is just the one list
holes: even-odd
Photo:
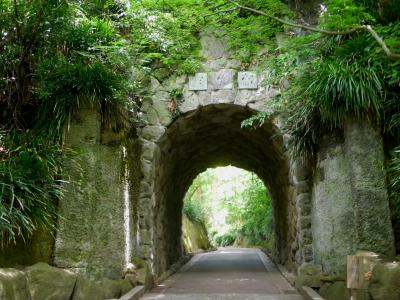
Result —
[{"label": "broad mossy rock below left pillar, second from left edge", "polygon": [[76,275],[70,271],[37,263],[26,268],[32,300],[70,299]]}]

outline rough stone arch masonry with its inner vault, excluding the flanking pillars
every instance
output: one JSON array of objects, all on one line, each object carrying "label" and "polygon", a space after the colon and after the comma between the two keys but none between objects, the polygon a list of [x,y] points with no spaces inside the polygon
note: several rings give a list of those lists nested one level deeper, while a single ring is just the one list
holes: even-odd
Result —
[{"label": "rough stone arch masonry with its inner vault, excluding the flanking pillars", "polygon": [[[186,189],[207,167],[233,164],[255,171],[270,189],[279,237],[277,257],[295,269],[312,260],[309,215],[298,225],[296,208],[297,194],[309,195],[309,173],[304,168],[298,168],[295,175],[289,171],[292,166],[278,122],[269,120],[265,129],[254,133],[240,128],[240,122],[256,111],[273,112],[268,102],[277,90],[263,83],[268,72],[257,73],[254,82],[241,88],[240,76],[248,74],[239,73],[241,64],[230,57],[225,37],[214,34],[212,30],[201,34],[204,64],[197,82],[187,76],[164,82],[153,78],[151,96],[143,102],[146,126],[139,130],[143,150],[139,256],[151,262],[154,274],[161,274],[178,259]],[[199,88],[199,80],[206,80],[207,85]],[[182,99],[172,99],[171,91],[180,89]],[[308,204],[304,207],[310,211]]]}]

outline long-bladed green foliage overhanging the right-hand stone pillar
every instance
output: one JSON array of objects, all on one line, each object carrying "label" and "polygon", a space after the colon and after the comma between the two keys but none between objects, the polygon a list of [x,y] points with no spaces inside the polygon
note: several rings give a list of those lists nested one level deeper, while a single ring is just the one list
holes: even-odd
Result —
[{"label": "long-bladed green foliage overhanging the right-hand stone pillar", "polygon": [[[320,26],[344,30],[373,24],[396,51],[398,24],[384,25],[376,18],[376,11],[360,1],[331,0]],[[368,33],[289,36],[271,54],[265,63],[274,70],[268,83],[281,87],[281,81],[291,81],[289,89],[281,87],[276,101],[286,119],[284,130],[292,137],[293,155],[313,159],[320,137],[342,129],[349,119],[367,119],[395,134],[399,62],[388,60]]]}]

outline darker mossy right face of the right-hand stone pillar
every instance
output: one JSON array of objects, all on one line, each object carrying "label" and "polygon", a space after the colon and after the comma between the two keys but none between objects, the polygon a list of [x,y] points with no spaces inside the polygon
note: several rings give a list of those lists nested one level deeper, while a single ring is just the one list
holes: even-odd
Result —
[{"label": "darker mossy right face of the right-hand stone pillar", "polygon": [[344,149],[357,250],[394,256],[382,137],[366,122],[351,122],[344,131]]}]

